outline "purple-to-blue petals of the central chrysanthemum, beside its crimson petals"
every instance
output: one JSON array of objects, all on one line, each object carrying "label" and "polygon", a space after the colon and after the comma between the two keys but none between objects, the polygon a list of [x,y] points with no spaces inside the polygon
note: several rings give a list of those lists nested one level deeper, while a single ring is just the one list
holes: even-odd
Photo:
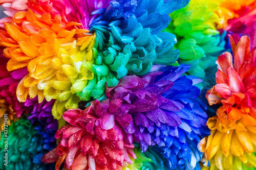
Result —
[{"label": "purple-to-blue petals of the central chrysanthemum, beside its crimson petals", "polygon": [[143,78],[125,76],[116,87],[107,87],[109,99],[92,103],[101,116],[97,121],[106,130],[122,127],[124,141],[139,142],[143,152],[158,146],[167,168],[193,169],[202,155],[199,136],[208,134],[205,105],[196,99],[200,90],[193,85],[200,80],[181,76],[187,65],[159,67]]}]

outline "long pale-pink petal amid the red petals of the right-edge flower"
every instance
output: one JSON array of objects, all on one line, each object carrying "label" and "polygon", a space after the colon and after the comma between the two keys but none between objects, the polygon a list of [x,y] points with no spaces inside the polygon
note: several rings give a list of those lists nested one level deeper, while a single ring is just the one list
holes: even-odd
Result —
[{"label": "long pale-pink petal amid the red petals of the right-edge flower", "polygon": [[228,85],[232,92],[244,92],[244,84],[233,68],[227,69]]}]

